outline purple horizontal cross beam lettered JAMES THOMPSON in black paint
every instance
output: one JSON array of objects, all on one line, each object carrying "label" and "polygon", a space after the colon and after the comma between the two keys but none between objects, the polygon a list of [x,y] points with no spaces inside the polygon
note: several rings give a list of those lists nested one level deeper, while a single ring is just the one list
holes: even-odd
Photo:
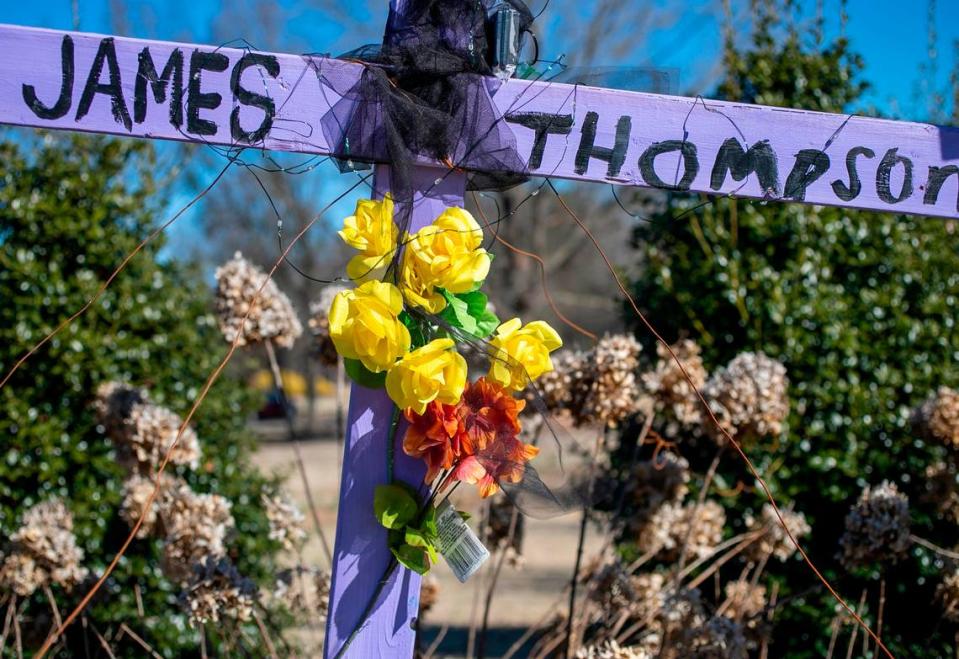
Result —
[{"label": "purple horizontal cross beam lettered JAMES THOMPSON in black paint", "polygon": [[[320,155],[347,155],[320,118],[363,73],[325,57],[10,25],[0,25],[0,52],[0,123]],[[959,129],[482,84],[530,175],[959,218]]]}]

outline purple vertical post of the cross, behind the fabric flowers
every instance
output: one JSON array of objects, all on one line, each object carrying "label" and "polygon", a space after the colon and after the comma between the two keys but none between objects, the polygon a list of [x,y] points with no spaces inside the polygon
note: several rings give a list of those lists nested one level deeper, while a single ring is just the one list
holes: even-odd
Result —
[{"label": "purple vertical post of the cross, behind the fabric flowers", "polygon": [[[403,29],[404,8],[404,0],[390,0],[386,42]],[[401,199],[395,204],[396,218],[408,217],[411,233],[429,225],[443,209],[463,205],[466,175],[461,172],[418,166],[412,170],[412,183],[412,208],[405,207]],[[391,190],[388,165],[376,167],[373,187],[377,198]],[[388,482],[387,444],[394,409],[385,390],[352,386],[333,549],[324,647],[327,658],[337,656],[348,642],[346,657],[413,656],[420,576],[400,565],[379,590],[393,556],[386,529],[373,516],[374,490]],[[393,478],[417,486],[423,482],[426,467],[421,460],[403,453],[404,430],[405,421],[401,420],[393,437]],[[363,621],[374,596],[376,602]],[[361,629],[349,641],[358,625]]]}]

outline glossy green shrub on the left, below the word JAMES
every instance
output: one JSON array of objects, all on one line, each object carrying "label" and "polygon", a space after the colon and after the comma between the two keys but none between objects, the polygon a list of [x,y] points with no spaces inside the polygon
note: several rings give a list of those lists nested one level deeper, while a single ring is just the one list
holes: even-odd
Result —
[{"label": "glossy green shrub on the left, below the word JAMES", "polygon": [[[77,311],[156,225],[154,167],[145,142],[46,135],[0,144],[4,373]],[[157,403],[185,416],[227,348],[200,272],[159,258],[162,244],[149,244],[87,313],[0,389],[0,535],[9,536],[30,505],[61,497],[95,575],[129,532],[118,515],[125,472],[91,409],[97,386],[120,380],[149,387]],[[230,557],[244,575],[263,581],[275,571],[278,547],[267,540],[260,503],[270,484],[249,461],[253,438],[244,422],[250,403],[236,382],[218,381],[194,418],[199,469],[180,475],[198,492],[230,499],[237,525]],[[197,653],[199,636],[177,608],[177,589],[160,573],[159,545],[135,541],[85,615],[104,634],[126,623],[166,656]],[[84,590],[55,590],[61,612]],[[42,594],[30,600],[24,619],[39,621],[30,642],[42,640],[49,629]],[[90,638],[75,624],[67,649],[83,656],[83,645],[95,643]],[[128,637],[113,649],[142,656]]]}]

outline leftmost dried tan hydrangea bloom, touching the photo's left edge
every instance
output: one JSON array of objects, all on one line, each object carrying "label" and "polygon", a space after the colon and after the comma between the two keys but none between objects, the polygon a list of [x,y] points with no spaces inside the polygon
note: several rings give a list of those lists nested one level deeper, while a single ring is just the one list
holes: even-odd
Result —
[{"label": "leftmost dried tan hydrangea bloom, touching the photo's left edge", "polygon": [[29,508],[20,528],[10,536],[0,584],[24,596],[49,585],[70,591],[89,574],[82,562],[73,515],[62,501],[51,499]]}]

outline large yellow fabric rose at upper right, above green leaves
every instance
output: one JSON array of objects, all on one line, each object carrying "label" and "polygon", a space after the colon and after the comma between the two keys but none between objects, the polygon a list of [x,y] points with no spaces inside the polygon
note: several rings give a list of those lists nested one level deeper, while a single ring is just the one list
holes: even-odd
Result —
[{"label": "large yellow fabric rose at upper right, above green leaves", "polygon": [[464,208],[447,208],[404,242],[403,294],[410,304],[432,313],[446,306],[434,289],[466,293],[489,274],[483,230]]}]

